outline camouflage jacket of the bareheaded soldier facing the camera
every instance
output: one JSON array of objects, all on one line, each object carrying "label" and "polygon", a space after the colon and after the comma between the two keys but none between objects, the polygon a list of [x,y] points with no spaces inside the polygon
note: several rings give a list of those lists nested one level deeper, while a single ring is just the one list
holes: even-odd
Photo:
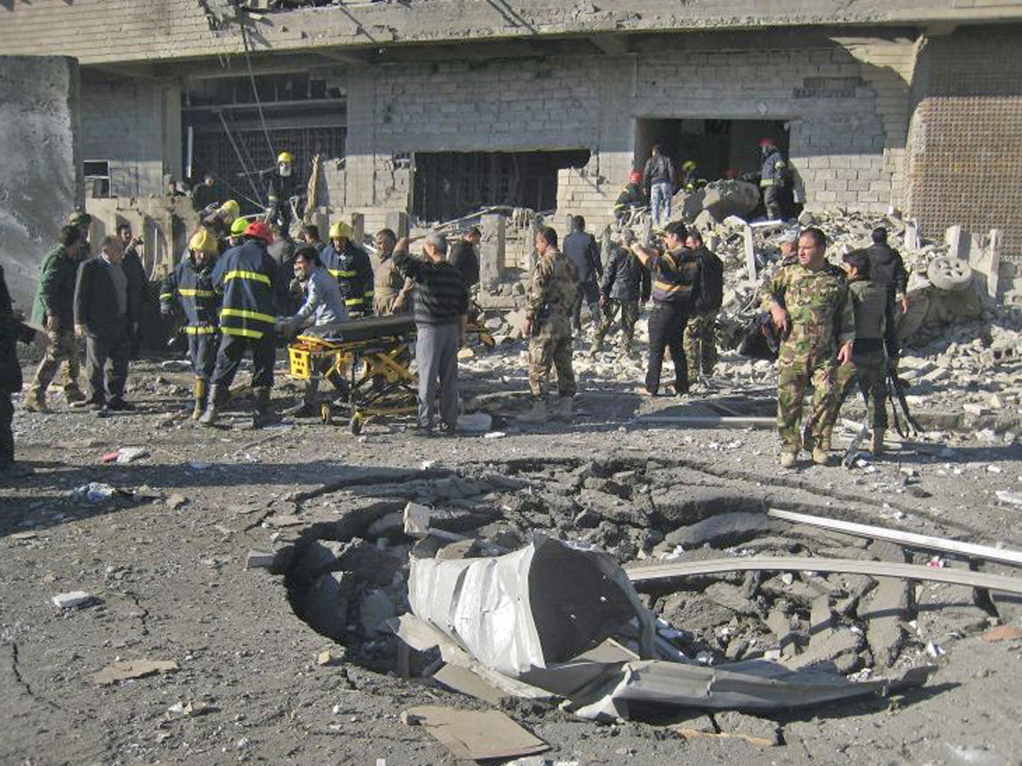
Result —
[{"label": "camouflage jacket of the bareheaded soldier facing the camera", "polygon": [[814,272],[796,262],[778,270],[766,284],[762,305],[770,310],[775,303],[788,312],[790,343],[830,352],[835,343],[844,345],[855,339],[848,285],[844,272],[835,266],[825,264]]}]

